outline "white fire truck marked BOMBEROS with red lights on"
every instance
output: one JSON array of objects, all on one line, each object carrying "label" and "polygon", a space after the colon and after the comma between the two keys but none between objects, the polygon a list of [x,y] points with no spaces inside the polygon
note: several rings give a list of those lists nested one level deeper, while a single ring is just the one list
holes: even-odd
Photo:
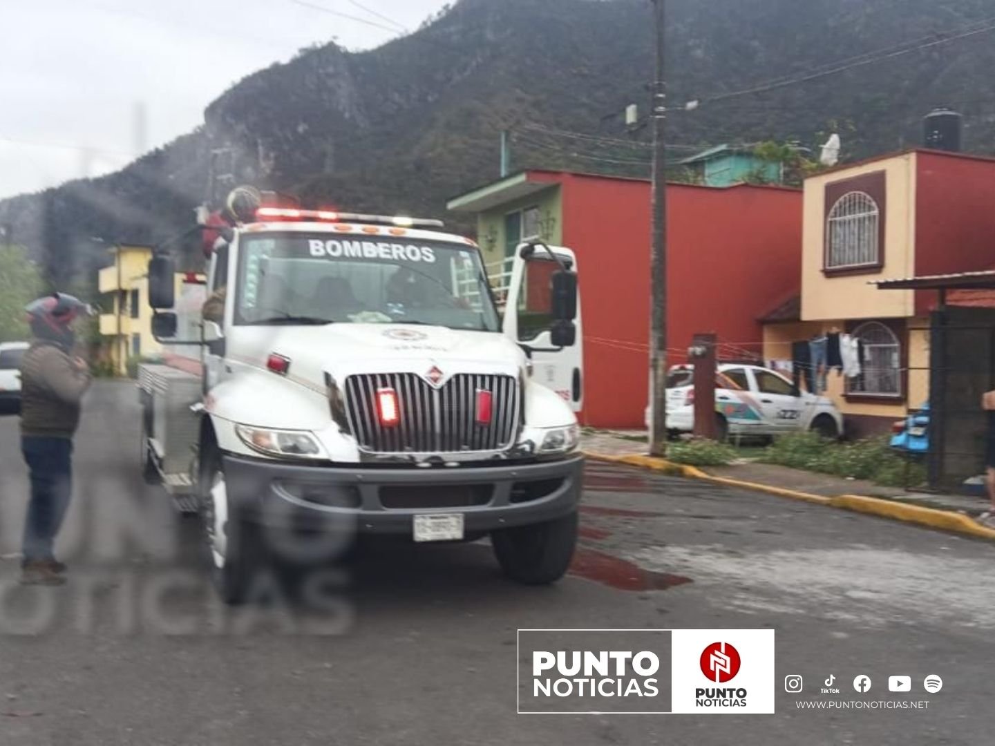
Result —
[{"label": "white fire truck marked BOMBEROS with red lights on", "polygon": [[144,475],[200,513],[221,596],[359,534],[490,535],[508,577],[562,577],[583,464],[574,255],[525,242],[496,292],[438,221],[230,207],[195,323],[174,260],[151,260],[168,352],[139,369]]}]

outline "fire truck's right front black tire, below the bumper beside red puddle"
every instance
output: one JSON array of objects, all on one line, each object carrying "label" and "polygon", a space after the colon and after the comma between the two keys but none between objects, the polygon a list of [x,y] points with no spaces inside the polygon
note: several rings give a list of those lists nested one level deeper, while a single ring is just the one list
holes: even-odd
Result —
[{"label": "fire truck's right front black tire, below the bumper beside red puddle", "polygon": [[491,532],[497,564],[504,575],[529,586],[563,577],[577,545],[577,513],[530,526]]}]

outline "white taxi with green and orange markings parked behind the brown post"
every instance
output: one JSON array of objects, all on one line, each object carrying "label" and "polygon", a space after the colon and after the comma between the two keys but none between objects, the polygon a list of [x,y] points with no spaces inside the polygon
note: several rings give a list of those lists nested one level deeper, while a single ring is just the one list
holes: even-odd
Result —
[{"label": "white taxi with green and orange markings parked behind the brown post", "polygon": [[[667,376],[667,429],[695,430],[695,366],[678,365]],[[716,436],[776,436],[814,431],[843,434],[843,416],[832,400],[798,392],[787,378],[758,365],[721,363],[715,381]]]}]

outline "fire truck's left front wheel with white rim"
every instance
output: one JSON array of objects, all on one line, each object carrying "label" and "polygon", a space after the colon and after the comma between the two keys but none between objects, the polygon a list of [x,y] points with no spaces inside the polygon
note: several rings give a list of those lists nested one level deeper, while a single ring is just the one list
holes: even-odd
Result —
[{"label": "fire truck's left front wheel with white rim", "polygon": [[200,497],[211,580],[226,604],[242,604],[262,575],[262,532],[228,499],[225,468],[214,446],[202,461]]}]

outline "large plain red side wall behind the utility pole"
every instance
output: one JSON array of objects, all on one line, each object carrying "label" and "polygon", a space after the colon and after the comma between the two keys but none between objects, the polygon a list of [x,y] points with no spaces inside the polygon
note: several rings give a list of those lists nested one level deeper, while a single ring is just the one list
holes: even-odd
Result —
[{"label": "large plain red side wall behind the utility pole", "polygon": [[[650,184],[562,174],[563,243],[577,253],[585,425],[642,428],[650,325]],[[692,335],[757,351],[757,318],[799,290],[802,194],[668,187],[669,361]]]}]

